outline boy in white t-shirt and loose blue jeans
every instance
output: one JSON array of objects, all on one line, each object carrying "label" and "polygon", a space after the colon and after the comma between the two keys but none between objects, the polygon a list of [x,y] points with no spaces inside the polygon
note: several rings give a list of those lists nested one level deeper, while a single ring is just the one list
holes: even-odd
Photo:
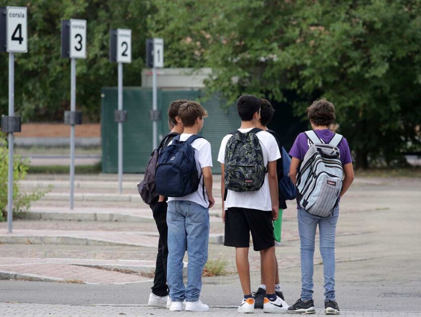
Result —
[{"label": "boy in white t-shirt and loose blue jeans", "polygon": [[[184,126],[180,141],[198,134],[207,113],[194,101],[181,105],[179,117]],[[207,261],[209,238],[209,210],[215,204],[212,195],[211,144],[197,138],[191,146],[195,152],[198,174],[202,174],[198,189],[184,197],[168,197],[168,287],[171,305],[169,310],[207,311],[209,307],[200,300],[202,271]],[[204,185],[204,188],[203,188]],[[189,256],[187,287],[183,283],[183,258]]]}]

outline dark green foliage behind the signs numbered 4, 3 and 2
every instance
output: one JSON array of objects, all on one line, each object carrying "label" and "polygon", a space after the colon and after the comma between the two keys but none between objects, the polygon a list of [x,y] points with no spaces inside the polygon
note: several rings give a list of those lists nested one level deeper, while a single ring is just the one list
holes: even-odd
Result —
[{"label": "dark green foliage behind the signs numbered 4, 3 and 2", "polygon": [[[11,5],[0,0],[0,7]],[[28,8],[28,52],[15,54],[15,107],[23,120],[61,120],[70,102],[70,60],[60,57],[61,20],[87,20],[87,58],[77,61],[77,108],[99,120],[100,89],[117,85],[117,64],[108,59],[109,31],[132,29],[132,63],[124,66],[124,85],[139,86],[145,60],[149,1],[16,0]],[[8,55],[0,67],[8,69]],[[7,113],[8,77],[0,77],[0,113]]]}]

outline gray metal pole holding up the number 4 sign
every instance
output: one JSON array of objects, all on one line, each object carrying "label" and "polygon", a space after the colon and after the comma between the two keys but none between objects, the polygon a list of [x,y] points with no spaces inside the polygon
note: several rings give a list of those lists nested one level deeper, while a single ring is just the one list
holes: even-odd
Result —
[{"label": "gray metal pole holding up the number 4 sign", "polygon": [[[15,115],[15,54],[9,53],[9,116]],[[9,132],[9,175],[7,184],[7,232],[12,233],[13,222],[13,156],[14,135]]]}]

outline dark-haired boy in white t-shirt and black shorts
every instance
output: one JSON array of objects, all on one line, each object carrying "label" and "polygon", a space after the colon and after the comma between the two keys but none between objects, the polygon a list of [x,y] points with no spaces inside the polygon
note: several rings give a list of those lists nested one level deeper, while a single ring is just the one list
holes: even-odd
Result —
[{"label": "dark-haired boy in white t-shirt and black shorts", "polygon": [[[260,100],[253,95],[242,95],[237,100],[237,111],[241,126],[237,133],[250,136],[260,118]],[[253,133],[253,132],[251,132]],[[276,160],[280,153],[276,140],[266,131],[256,132],[262,149],[263,163],[267,167],[263,185],[256,191],[237,192],[228,190],[226,201],[222,202],[222,221],[225,223],[224,245],[235,248],[237,271],[244,298],[238,312],[254,312],[255,301],[250,287],[249,247],[250,232],[253,237],[253,249],[262,251],[263,271],[265,274],[267,295],[264,298],[264,312],[285,312],[288,304],[275,294],[275,263],[273,224],[278,217],[278,186]],[[221,163],[221,194],[225,195],[225,159],[226,148],[233,134],[226,135],[221,143],[218,161]],[[251,150],[253,151],[253,149]],[[228,153],[228,152],[227,152]],[[254,153],[244,153],[244,155]],[[260,153],[259,153],[260,155]],[[229,156],[227,156],[229,158]],[[248,182],[248,180],[246,180]]]}]

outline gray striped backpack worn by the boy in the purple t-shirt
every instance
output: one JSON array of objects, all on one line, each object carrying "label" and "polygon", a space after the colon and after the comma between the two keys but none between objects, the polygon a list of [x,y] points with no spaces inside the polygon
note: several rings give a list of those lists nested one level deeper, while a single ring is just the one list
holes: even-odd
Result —
[{"label": "gray striped backpack worn by the boy in the purple t-shirt", "polygon": [[297,174],[297,202],[309,214],[332,215],[342,189],[343,168],[338,145],[342,135],[335,134],[325,144],[314,131],[306,131],[312,145]]}]

